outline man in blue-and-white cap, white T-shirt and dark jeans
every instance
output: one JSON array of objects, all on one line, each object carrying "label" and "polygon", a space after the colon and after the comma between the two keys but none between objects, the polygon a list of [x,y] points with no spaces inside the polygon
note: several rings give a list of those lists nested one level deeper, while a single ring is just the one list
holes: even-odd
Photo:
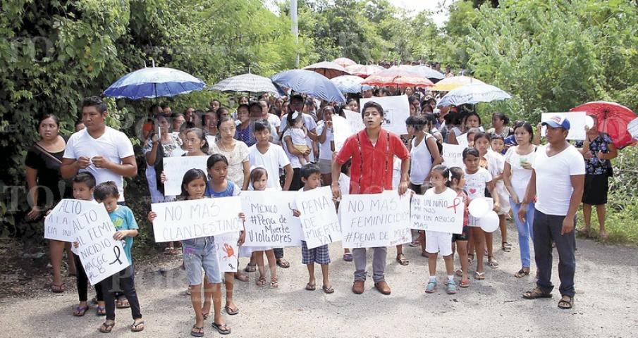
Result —
[{"label": "man in blue-and-white cap, white T-shirt and dark jeans", "polygon": [[527,205],[536,198],[534,212],[534,252],[538,280],[536,288],[525,292],[525,299],[551,298],[553,284],[552,243],[558,250],[560,277],[559,308],[572,308],[576,271],[576,211],[582,199],[585,165],[579,151],[567,142],[570,121],[553,115],[542,123],[548,144],[539,146],[532,165],[532,178],[521,203],[518,217],[524,221]]}]

